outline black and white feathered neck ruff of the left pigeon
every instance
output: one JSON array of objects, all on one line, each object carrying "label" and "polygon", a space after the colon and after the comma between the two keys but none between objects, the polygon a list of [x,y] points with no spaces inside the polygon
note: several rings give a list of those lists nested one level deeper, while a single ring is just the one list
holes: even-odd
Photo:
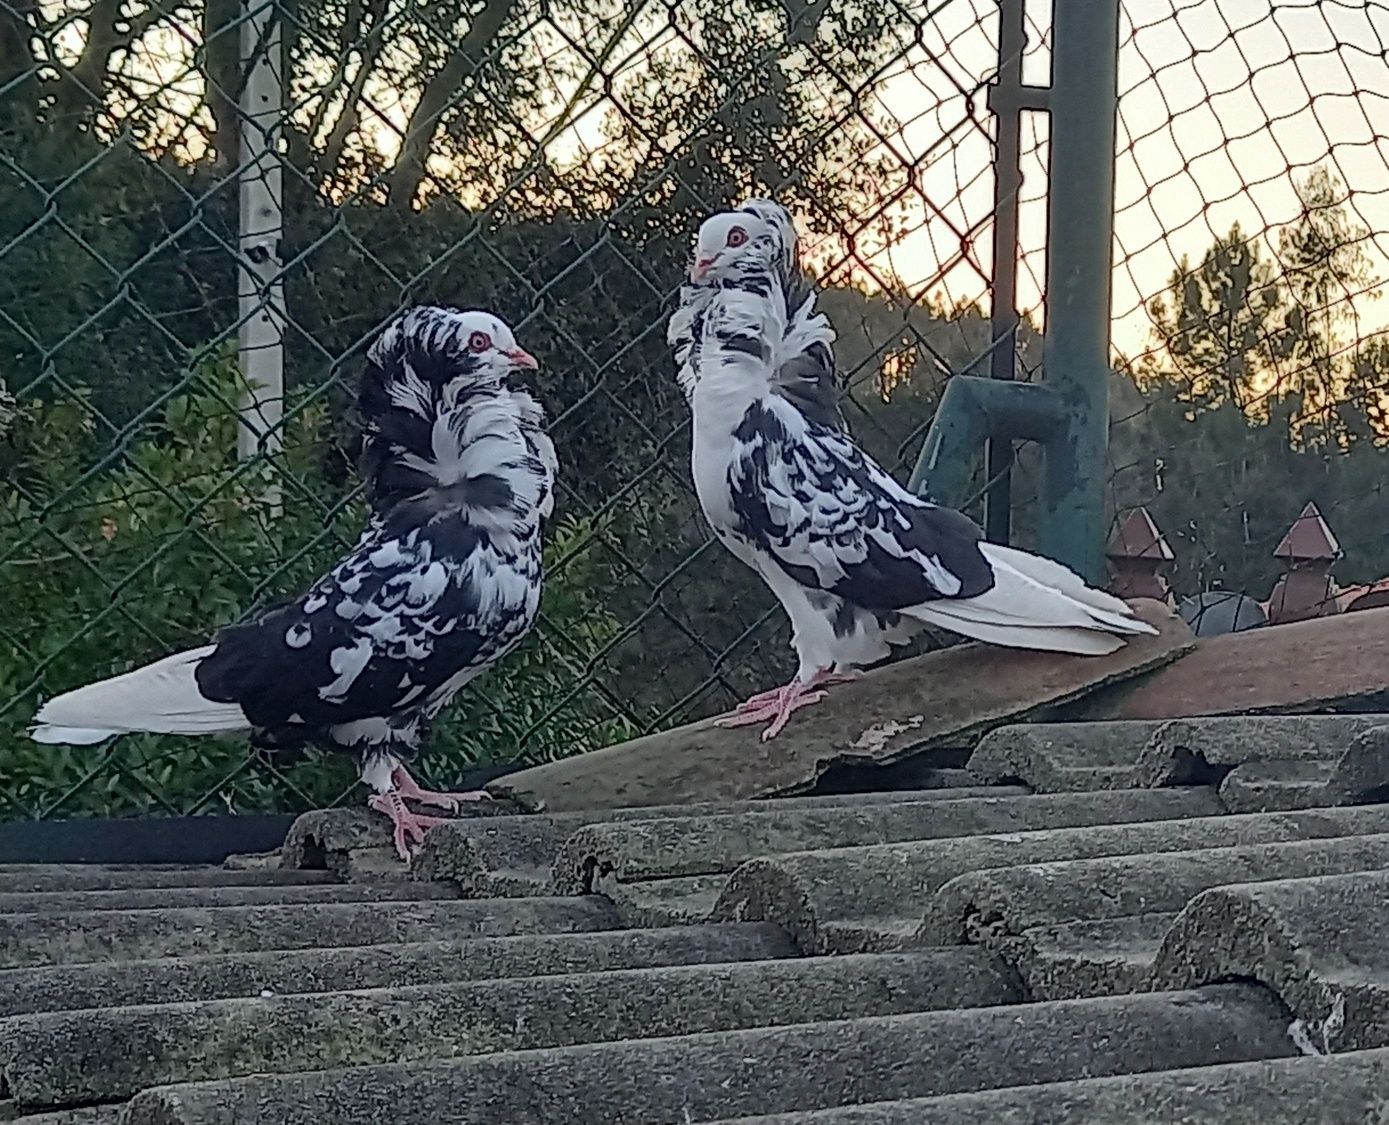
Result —
[{"label": "black and white feathered neck ruff of the left pigeon", "polygon": [[540,503],[533,483],[546,467],[531,461],[538,436],[553,460],[544,411],[529,392],[506,385],[503,368],[469,350],[453,310],[411,308],[381,335],[367,356],[357,408],[360,468],[378,511],[478,476],[515,476],[524,486],[515,501]]}]

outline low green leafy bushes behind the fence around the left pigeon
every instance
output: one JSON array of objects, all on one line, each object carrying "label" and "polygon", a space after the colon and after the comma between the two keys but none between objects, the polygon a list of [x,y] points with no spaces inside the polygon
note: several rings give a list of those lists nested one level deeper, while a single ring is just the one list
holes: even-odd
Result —
[{"label": "low green leafy bushes behind the fence around the left pigeon", "polygon": [[[201,643],[211,628],[293,594],[356,539],[364,506],[332,481],[328,410],[290,404],[283,450],[238,461],[233,357],[200,362],[161,417],[99,458],[82,397],[17,404],[0,485],[0,775],[10,815],[313,807],[353,790],[339,754],[274,762],[244,739],[133,736],[100,747],[32,743],[40,697]],[[276,493],[278,490],[278,493]],[[278,504],[275,503],[278,494]],[[538,629],[440,717],[422,767],[557,757],[628,736],[582,686],[618,625],[596,590],[607,528],[563,522]],[[574,685],[581,688],[572,694]]]}]

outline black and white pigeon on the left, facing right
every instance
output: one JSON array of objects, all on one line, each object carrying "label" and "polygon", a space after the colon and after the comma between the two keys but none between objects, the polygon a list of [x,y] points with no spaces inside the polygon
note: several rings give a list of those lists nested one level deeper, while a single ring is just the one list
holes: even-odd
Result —
[{"label": "black and white pigeon on the left, facing right", "polygon": [[483,792],[421,789],[406,768],[429,721],[525,636],[540,604],[542,525],[557,462],[535,368],[490,312],[417,307],[372,344],[358,392],[371,515],[356,547],[297,600],[210,644],[46,703],[32,736],[225,735],[353,753],[371,808],[411,844]]}]

